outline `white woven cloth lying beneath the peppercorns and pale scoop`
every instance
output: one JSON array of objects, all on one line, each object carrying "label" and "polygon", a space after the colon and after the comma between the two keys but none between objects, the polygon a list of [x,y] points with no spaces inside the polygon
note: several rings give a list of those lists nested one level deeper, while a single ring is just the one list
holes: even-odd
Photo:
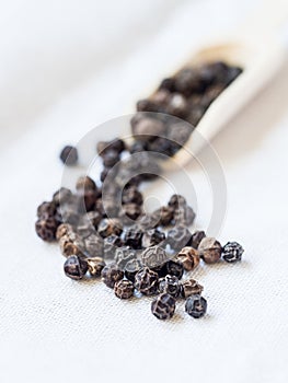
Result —
[{"label": "white woven cloth lying beneath the peppercorns and pale scoop", "polygon": [[[162,323],[149,299],[122,302],[101,282],[72,282],[57,246],[34,233],[37,204],[60,184],[61,146],[133,112],[147,84],[254,4],[1,2],[1,382],[287,382],[287,62],[212,142],[228,187],[220,240],[245,253],[242,264],[196,271],[204,320],[180,305]],[[207,179],[195,164],[188,172],[205,227]]]}]

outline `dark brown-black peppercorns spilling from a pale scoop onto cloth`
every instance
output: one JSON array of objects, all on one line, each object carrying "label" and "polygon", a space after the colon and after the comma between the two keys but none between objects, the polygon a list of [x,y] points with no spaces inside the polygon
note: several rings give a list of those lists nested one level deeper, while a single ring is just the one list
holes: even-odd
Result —
[{"label": "dark brown-black peppercorns spilling from a pale scoop onto cloth", "polygon": [[[96,144],[103,162],[101,186],[81,176],[73,192],[61,187],[37,208],[36,233],[44,241],[58,241],[67,277],[102,278],[119,299],[136,291],[137,297],[155,295],[151,311],[159,320],[173,316],[178,299],[186,300],[188,315],[206,313],[203,287],[193,271],[200,262],[241,260],[242,246],[222,246],[204,231],[192,233],[195,212],[183,196],[173,195],[165,206],[146,213],[139,187],[161,172],[154,153],[173,155],[192,132],[189,124],[168,115],[196,121],[197,113],[203,115],[240,72],[215,62],[163,80],[152,97],[137,104],[141,112],[131,119],[129,146],[118,138]],[[77,149],[66,147],[60,159],[76,164]]]}]

